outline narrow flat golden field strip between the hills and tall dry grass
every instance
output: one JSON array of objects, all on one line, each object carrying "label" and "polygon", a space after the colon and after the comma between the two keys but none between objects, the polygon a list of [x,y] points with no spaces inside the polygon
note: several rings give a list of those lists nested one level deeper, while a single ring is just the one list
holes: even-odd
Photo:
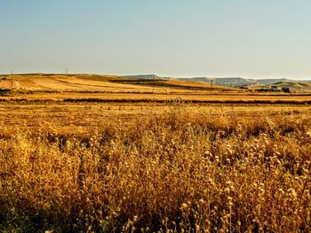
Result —
[{"label": "narrow flat golden field strip between the hills and tall dry grass", "polygon": [[[0,90],[0,101],[89,101],[89,102],[176,102],[192,103],[230,103],[230,104],[310,104],[308,94],[254,94],[254,93],[226,93],[200,90],[182,90],[174,92],[157,90],[155,93],[144,89],[135,91],[113,88],[113,91],[38,91],[38,90]],[[176,92],[175,92],[176,91]]]}]

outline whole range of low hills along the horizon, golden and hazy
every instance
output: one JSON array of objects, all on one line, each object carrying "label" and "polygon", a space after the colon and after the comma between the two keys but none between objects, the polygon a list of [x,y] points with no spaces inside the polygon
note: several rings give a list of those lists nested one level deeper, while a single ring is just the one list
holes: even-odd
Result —
[{"label": "whole range of low hills along the horizon, golden and hazy", "polygon": [[[211,85],[212,83],[212,85]],[[173,78],[156,74],[104,75],[104,74],[0,74],[0,88],[16,89],[79,89],[101,91],[103,89],[271,89],[276,86],[291,91],[310,92],[311,81],[289,79],[244,79],[242,77],[193,77]]]}]

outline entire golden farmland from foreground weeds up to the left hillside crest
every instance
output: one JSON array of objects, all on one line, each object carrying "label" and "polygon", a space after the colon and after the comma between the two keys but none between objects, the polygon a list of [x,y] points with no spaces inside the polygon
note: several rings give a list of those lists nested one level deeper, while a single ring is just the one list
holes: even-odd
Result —
[{"label": "entire golden farmland from foreground weeds up to the left hillside crest", "polygon": [[0,231],[311,229],[307,91],[1,78]]}]

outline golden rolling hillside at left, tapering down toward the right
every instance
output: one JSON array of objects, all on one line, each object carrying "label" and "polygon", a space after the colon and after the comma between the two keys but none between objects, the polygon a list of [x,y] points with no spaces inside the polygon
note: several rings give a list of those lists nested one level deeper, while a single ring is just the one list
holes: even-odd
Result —
[{"label": "golden rolling hillside at left, tapering down toward the right", "polygon": [[0,75],[2,89],[59,91],[193,91],[232,90],[205,82],[181,81],[155,75],[114,76],[99,74],[14,74]]}]

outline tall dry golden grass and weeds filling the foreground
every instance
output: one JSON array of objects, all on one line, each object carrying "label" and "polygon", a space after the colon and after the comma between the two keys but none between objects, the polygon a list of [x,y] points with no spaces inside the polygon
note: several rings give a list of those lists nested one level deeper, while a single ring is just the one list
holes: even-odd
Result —
[{"label": "tall dry golden grass and weeds filling the foreground", "polygon": [[[38,105],[1,106],[29,119],[0,121],[0,231],[310,230],[307,107],[250,117],[176,104],[95,120],[111,111],[101,106],[67,127],[84,105],[52,105],[52,118]],[[28,125],[36,113],[46,122]],[[90,127],[76,125],[86,118]]]}]

